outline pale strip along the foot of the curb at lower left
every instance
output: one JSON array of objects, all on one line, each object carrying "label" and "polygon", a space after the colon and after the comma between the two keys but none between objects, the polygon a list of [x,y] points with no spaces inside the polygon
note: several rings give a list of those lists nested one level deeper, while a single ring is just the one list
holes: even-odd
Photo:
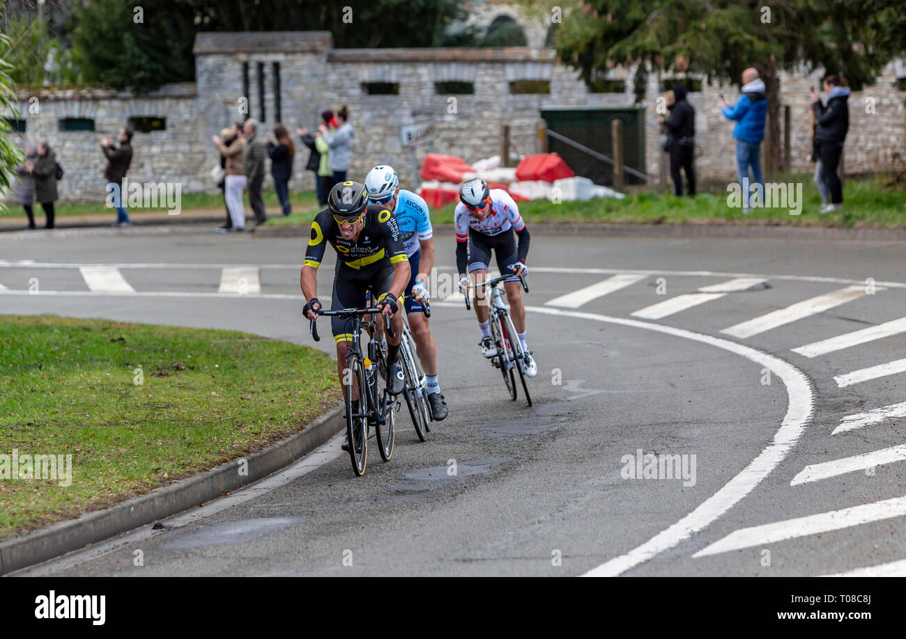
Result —
[{"label": "pale strip along the foot of the curb at lower left", "polygon": [[211,517],[221,510],[226,510],[227,508],[232,508],[245,501],[255,499],[255,497],[260,497],[265,492],[273,491],[275,488],[284,486],[285,484],[293,482],[303,475],[320,468],[325,463],[332,462],[340,455],[340,453],[342,453],[342,449],[340,448],[341,441],[342,435],[337,435],[330,442],[324,443],[321,447],[316,448],[298,462],[291,466],[287,466],[282,471],[275,472],[274,474],[265,477],[265,479],[250,484],[238,491],[233,491],[225,497],[218,497],[214,501],[208,501],[204,506],[186,510],[182,514],[173,515],[166,520],[162,520],[162,522],[168,526],[167,529],[154,530],[151,529],[150,525],[142,526],[125,535],[92,544],[89,548],[76,550],[67,555],[63,555],[63,557],[60,558],[48,559],[36,566],[22,568],[21,570],[9,573],[8,577],[42,577],[53,575],[60,570],[78,566],[86,561],[99,558],[137,541],[143,541],[144,539],[166,533],[168,529],[188,526],[188,524],[194,521]]}]

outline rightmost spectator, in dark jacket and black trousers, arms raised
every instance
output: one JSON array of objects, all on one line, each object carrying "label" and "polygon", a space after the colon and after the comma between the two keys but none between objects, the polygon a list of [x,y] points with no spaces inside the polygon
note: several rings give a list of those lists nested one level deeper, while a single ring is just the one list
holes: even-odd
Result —
[{"label": "rightmost spectator, in dark jacket and black trousers, arms raised", "polygon": [[833,73],[824,78],[824,91],[827,93],[827,106],[812,90],[812,110],[818,120],[814,129],[814,142],[818,145],[821,157],[821,176],[831,194],[831,204],[825,205],[822,211],[836,211],[843,208],[843,184],[837,175],[840,166],[840,155],[843,153],[843,141],[849,131],[850,90],[843,79]]}]

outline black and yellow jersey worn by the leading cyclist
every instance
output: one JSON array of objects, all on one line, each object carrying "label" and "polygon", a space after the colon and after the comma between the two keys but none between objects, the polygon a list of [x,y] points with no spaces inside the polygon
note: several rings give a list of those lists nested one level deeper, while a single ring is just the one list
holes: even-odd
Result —
[{"label": "black and yellow jersey worn by the leading cyclist", "polygon": [[395,264],[409,259],[403,248],[400,226],[390,211],[382,205],[368,205],[363,222],[365,225],[358,242],[345,240],[330,209],[324,209],[312,223],[304,263],[314,268],[321,266],[328,242],[336,250],[338,260],[352,269],[361,269],[381,260]]}]

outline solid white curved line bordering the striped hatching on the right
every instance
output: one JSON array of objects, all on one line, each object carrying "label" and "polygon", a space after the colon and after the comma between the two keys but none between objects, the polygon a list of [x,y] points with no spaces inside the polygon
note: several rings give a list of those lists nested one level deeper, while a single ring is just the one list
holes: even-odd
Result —
[{"label": "solid white curved line bordering the striped hatching on the right", "polygon": [[809,385],[805,373],[773,355],[763,353],[756,348],[737,344],[728,339],[715,338],[710,335],[696,333],[691,330],[676,329],[670,326],[652,324],[650,322],[639,320],[625,320],[623,318],[611,317],[608,315],[599,315],[597,313],[587,313],[577,310],[557,310],[546,309],[539,306],[526,306],[525,310],[536,313],[545,313],[547,315],[559,315],[563,317],[575,318],[578,320],[593,320],[608,322],[611,324],[620,324],[634,329],[654,330],[667,335],[673,335],[678,338],[692,339],[703,344],[708,344],[717,348],[723,348],[731,353],[735,353],[750,361],[768,368],[774,375],[780,377],[786,386],[786,395],[789,403],[786,409],[784,421],[780,428],[774,434],[774,439],[768,443],[761,453],[749,463],[746,468],[739,472],[733,479],[724,484],[724,486],[715,492],[708,500],[702,502],[698,508],[692,510],[686,517],[679,520],[670,528],[663,530],[655,535],[638,548],[633,548],[628,553],[610,561],[603,563],[598,567],[586,572],[583,577],[616,577],[632,567],[654,558],[664,550],[673,548],[679,542],[689,539],[699,530],[706,528],[714,520],[732,508],[738,501],[742,500],[750,491],[752,491],[759,482],[773,471],[777,464],[782,462],[786,453],[795,446],[800,435],[805,430],[812,417],[812,407],[814,405],[814,394],[812,386]]}]

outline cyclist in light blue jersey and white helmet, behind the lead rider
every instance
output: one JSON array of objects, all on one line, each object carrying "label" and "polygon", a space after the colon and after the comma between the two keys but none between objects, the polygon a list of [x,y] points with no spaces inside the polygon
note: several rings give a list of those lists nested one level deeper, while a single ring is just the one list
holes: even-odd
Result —
[{"label": "cyclist in light blue jersey and white helmet, behind the lead rider", "polygon": [[422,304],[430,300],[428,280],[434,267],[434,231],[428,205],[420,196],[400,188],[400,178],[393,167],[374,167],[365,176],[365,190],[371,203],[384,206],[396,217],[403,248],[409,256],[412,276],[407,291],[416,297],[406,300],[406,315],[412,338],[418,349],[421,367],[428,382],[428,404],[431,417],[440,421],[447,416],[447,402],[438,382],[438,349],[431,337],[428,318]]}]

